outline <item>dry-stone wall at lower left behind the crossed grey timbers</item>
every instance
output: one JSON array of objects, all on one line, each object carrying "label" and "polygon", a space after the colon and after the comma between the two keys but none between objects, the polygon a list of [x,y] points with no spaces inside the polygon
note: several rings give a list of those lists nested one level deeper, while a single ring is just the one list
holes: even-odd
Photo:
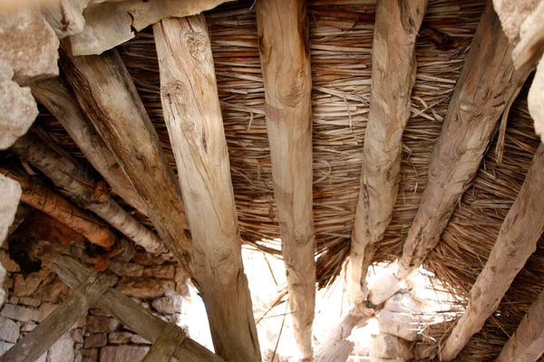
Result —
[{"label": "dry-stone wall at lower left behind the crossed grey timbers", "polygon": [[[126,242],[122,252],[109,259],[99,248],[83,241],[15,239],[8,239],[0,249],[0,262],[7,271],[3,286],[7,298],[0,310],[0,355],[71,295],[72,290],[52,270],[56,254],[72,256],[89,268],[105,269],[112,287],[161,319],[181,325],[183,300],[189,296],[188,278],[171,254],[149,254]],[[14,259],[10,258],[10,247]],[[149,347],[147,340],[125,329],[112,316],[91,309],[40,361],[138,362]]]}]

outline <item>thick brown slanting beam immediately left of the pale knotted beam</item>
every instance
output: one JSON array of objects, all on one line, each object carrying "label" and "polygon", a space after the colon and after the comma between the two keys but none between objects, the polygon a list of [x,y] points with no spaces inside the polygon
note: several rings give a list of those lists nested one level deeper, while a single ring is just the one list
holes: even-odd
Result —
[{"label": "thick brown slanting beam immediately left of the pale knotted beam", "polygon": [[119,53],[70,56],[61,66],[87,117],[141,196],[160,238],[194,277],[180,185]]}]

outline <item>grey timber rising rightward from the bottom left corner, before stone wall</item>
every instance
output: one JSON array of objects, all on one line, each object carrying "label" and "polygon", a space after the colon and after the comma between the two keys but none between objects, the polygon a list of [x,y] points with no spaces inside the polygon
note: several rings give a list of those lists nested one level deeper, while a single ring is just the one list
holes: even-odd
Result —
[{"label": "grey timber rising rightward from the bottom left corner, before stone wall", "polygon": [[90,273],[73,294],[35,329],[0,357],[0,362],[35,361],[41,357],[73,323],[109,288],[97,272]]}]

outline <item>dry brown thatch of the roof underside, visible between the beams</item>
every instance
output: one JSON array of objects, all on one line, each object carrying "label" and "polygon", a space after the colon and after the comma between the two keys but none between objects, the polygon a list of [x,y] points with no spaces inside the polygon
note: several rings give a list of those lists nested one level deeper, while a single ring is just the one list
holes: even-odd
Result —
[{"label": "dry brown thatch of the roof underside, visible between the beams", "polygon": [[[364,1],[316,0],[307,4],[313,76],[317,280],[321,287],[339,274],[349,252],[369,107],[374,5],[350,3]],[[443,50],[428,36],[418,38],[418,72],[412,117],[403,134],[399,195],[393,221],[374,255],[376,262],[393,261],[402,252],[427,180],[429,157],[484,4],[463,0],[429,2],[423,28],[432,27],[451,36],[455,46]],[[274,240],[280,233],[270,170],[256,18],[251,5],[251,2],[222,5],[206,15],[240,232],[245,243],[279,253],[279,243],[277,250],[259,245],[261,239]],[[119,46],[119,51],[175,170],[162,119],[159,66],[151,29]],[[486,262],[539,143],[523,93],[510,111],[502,163],[497,162],[495,135],[473,185],[463,195],[442,234],[442,242],[425,262],[426,268],[461,299],[468,294]],[[51,115],[44,111],[39,119],[74,156],[83,157]],[[151,225],[144,216],[139,218]],[[540,245],[501,302],[500,315],[488,320],[481,333],[471,338],[462,356],[470,360],[496,356],[517,328],[544,287],[539,278],[544,272],[541,260],[544,243]],[[440,338],[446,329],[444,325],[435,326],[428,334]]]}]

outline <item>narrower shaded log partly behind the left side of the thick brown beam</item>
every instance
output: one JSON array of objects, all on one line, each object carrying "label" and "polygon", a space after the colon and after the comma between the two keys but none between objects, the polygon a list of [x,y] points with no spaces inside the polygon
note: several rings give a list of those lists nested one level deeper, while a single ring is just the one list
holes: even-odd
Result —
[{"label": "narrower shaded log partly behind the left side of the thick brown beam", "polygon": [[112,190],[142,214],[146,211],[141,198],[122,172],[115,155],[106,146],[92,123],[83,115],[80,105],[63,77],[32,84],[34,97],[61,122],[64,129],[94,167],[112,186]]}]

